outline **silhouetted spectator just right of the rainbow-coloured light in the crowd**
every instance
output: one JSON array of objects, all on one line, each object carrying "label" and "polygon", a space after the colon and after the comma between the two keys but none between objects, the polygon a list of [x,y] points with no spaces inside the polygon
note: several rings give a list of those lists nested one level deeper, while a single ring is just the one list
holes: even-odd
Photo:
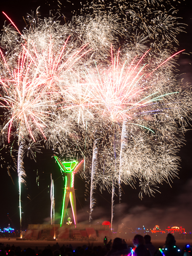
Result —
[{"label": "silhouetted spectator just right of the rainbow-coloured light in the crowd", "polygon": [[151,256],[150,250],[145,247],[144,243],[145,241],[142,235],[136,235],[133,238],[133,245],[136,246],[134,256]]}]

